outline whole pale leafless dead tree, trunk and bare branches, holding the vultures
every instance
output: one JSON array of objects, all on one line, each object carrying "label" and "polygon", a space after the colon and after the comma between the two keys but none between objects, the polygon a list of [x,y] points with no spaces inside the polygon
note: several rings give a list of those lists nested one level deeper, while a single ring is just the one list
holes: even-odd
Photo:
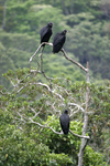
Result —
[{"label": "whole pale leafless dead tree, trunk and bare branches, holding the vultures", "polygon": [[[14,90],[16,93],[20,93],[23,89],[25,89],[26,86],[26,83],[23,84],[23,81],[30,76],[31,74],[35,73],[40,73],[42,74],[50,83],[52,83],[52,81],[54,80],[53,77],[48,77],[44,70],[43,70],[43,51],[44,51],[44,48],[42,46],[43,44],[47,44],[47,45],[51,45],[53,46],[52,43],[42,43],[37,50],[35,51],[35,53],[30,58],[30,61],[29,61],[29,65],[30,65],[30,74],[25,75],[24,79],[21,79],[19,80],[16,77],[16,81],[15,82],[12,82],[12,80],[10,80],[11,84],[13,85]],[[37,61],[36,59],[36,54],[38,53],[38,51],[41,50],[41,53],[38,55],[40,58],[40,62]],[[74,61],[73,59],[70,59],[64,49],[61,50],[63,55],[65,56],[65,59],[67,61],[70,61],[72,63],[76,64],[78,68],[80,68],[82,71],[86,72],[86,75],[87,75],[87,92],[86,92],[86,96],[85,96],[85,108],[82,105],[79,105],[77,103],[75,103],[75,101],[73,101],[73,97],[70,100],[70,102],[68,103],[68,106],[70,108],[70,106],[75,106],[77,108],[77,111],[75,113],[79,113],[81,112],[84,114],[84,125],[82,125],[82,133],[81,135],[78,135],[78,134],[75,134],[73,131],[69,129],[69,133],[72,133],[74,136],[76,137],[79,137],[81,138],[81,144],[80,144],[80,148],[79,148],[79,153],[78,153],[78,166],[82,166],[82,159],[84,159],[84,152],[85,152],[85,148],[87,146],[87,143],[89,141],[89,136],[86,135],[87,133],[87,127],[88,127],[88,112],[89,112],[89,86],[88,86],[88,83],[89,83],[89,65],[87,63],[87,69],[84,68],[80,63]],[[33,59],[36,60],[36,64],[37,64],[37,68],[35,70],[33,70],[31,68],[31,62],[33,61]],[[67,92],[67,90],[65,87],[62,87],[59,85],[56,85],[55,84],[55,89],[53,90],[51,87],[51,85],[46,84],[46,83],[42,83],[42,82],[34,82],[33,84],[30,82],[28,83],[29,85],[36,85],[36,86],[41,86],[41,87],[44,87],[47,92],[50,92],[55,98],[57,97],[59,100],[59,103],[63,105],[65,104],[65,98],[64,96],[62,95],[62,93],[59,92],[59,89],[65,92],[68,96],[70,95],[69,92]],[[58,91],[57,91],[58,89]],[[72,94],[73,95],[73,94]],[[54,111],[56,111],[55,108],[55,102],[54,103],[50,103],[50,105],[53,107]],[[53,131],[55,134],[63,134],[63,133],[59,133],[59,132],[56,132],[55,129],[52,128],[52,126],[48,125],[48,123],[45,123],[45,124],[41,124],[38,122],[35,122],[35,117],[42,112],[42,107],[38,110],[38,112],[36,112],[33,107],[31,107],[29,105],[29,110],[32,112],[32,116],[31,117],[28,117],[24,113],[23,113],[23,110],[24,107],[21,107],[16,113],[15,113],[15,120],[18,122],[20,122],[20,124],[26,124],[26,123],[32,123],[32,124],[36,124],[38,125],[40,127],[44,127],[44,128],[50,128],[51,131]],[[21,128],[22,129],[22,128]]]}]

